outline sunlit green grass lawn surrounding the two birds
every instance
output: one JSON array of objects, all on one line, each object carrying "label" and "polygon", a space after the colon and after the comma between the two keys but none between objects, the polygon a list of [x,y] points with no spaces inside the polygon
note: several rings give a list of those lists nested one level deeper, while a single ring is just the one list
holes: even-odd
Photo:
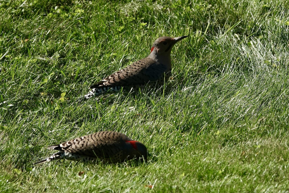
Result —
[{"label": "sunlit green grass lawn surrounding the two birds", "polygon": [[[288,192],[285,1],[15,0],[0,15],[0,192]],[[75,103],[164,35],[189,37],[162,88]],[[32,165],[102,130],[148,162]]]}]

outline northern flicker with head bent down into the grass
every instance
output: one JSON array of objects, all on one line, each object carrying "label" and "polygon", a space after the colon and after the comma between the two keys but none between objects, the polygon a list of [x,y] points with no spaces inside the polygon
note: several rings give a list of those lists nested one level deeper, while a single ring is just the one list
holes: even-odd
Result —
[{"label": "northern flicker with head bent down into the grass", "polygon": [[78,137],[62,144],[49,146],[57,153],[34,164],[55,159],[106,163],[123,162],[129,159],[147,159],[147,148],[139,141],[130,139],[125,134],[114,131],[100,131]]}]

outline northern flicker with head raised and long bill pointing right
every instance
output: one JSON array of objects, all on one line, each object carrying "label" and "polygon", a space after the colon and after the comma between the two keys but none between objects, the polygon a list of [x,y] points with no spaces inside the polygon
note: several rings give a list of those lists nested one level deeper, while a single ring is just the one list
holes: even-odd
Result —
[{"label": "northern flicker with head raised and long bill pointing right", "polygon": [[188,36],[158,38],[153,43],[151,54],[148,57],[138,60],[90,86],[91,91],[80,97],[79,100],[86,100],[105,92],[118,92],[121,88],[130,91],[146,85],[156,87],[164,84],[164,81],[171,76],[172,47],[186,37]]}]

